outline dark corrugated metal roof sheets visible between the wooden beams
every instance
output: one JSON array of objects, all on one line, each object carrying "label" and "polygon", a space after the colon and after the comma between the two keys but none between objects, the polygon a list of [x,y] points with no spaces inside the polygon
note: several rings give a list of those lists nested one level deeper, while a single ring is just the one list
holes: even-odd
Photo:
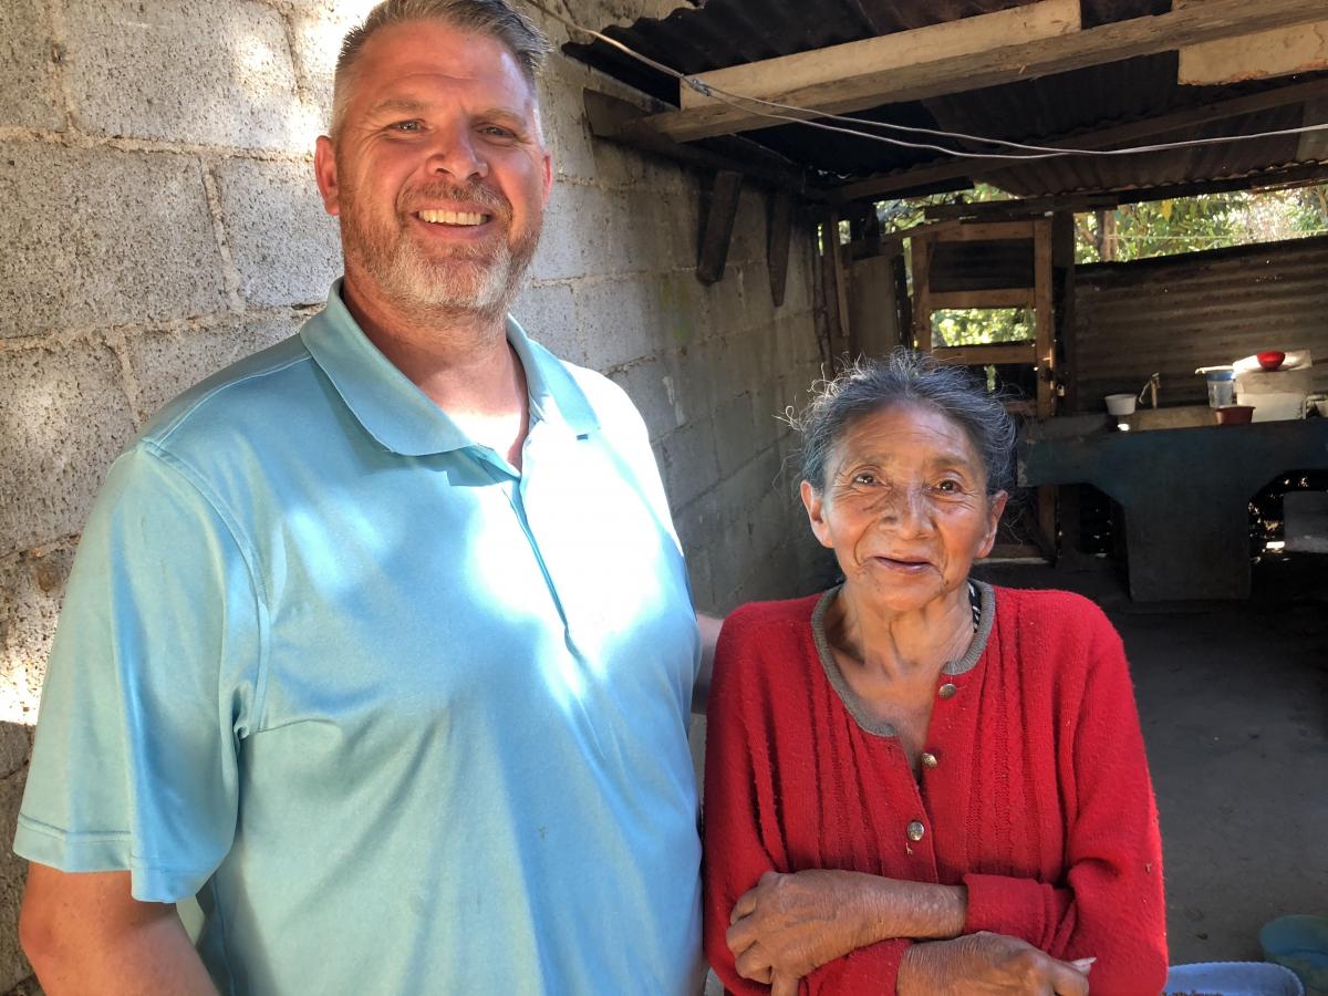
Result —
[{"label": "dark corrugated metal roof sheets visible between the wooden beams", "polygon": [[[708,0],[701,8],[681,8],[663,20],[641,19],[628,28],[607,28],[606,33],[680,72],[695,74],[1031,1],[805,0],[790,4],[785,0]],[[1169,9],[1169,0],[1082,0],[1085,27]],[[570,44],[566,50],[659,100],[677,101],[677,85],[671,77],[608,45]],[[1181,86],[1177,82],[1177,54],[1163,53],[927,101],[892,104],[855,116],[1041,143],[1167,112],[1202,108],[1212,101],[1275,89],[1287,82],[1282,78],[1227,86]],[[1167,134],[1165,139],[1293,127],[1303,124],[1303,105],[1288,105]],[[801,125],[748,131],[745,137],[819,174],[827,185],[946,162],[948,158],[850,135],[813,131]],[[1106,193],[1247,177],[1271,167],[1313,161],[1301,157],[1300,142],[1291,135],[1130,157],[1042,159],[999,173],[987,171],[975,179],[988,179],[1025,197]],[[954,182],[935,183],[928,189],[954,189]]]}]

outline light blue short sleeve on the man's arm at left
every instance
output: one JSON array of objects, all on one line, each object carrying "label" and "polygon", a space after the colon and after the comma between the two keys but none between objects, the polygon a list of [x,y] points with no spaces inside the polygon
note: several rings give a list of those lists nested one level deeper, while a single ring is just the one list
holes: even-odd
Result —
[{"label": "light blue short sleeve on the man's arm at left", "polygon": [[235,835],[262,600],[201,483],[139,444],[85,527],[42,689],[15,851],[194,895]]}]

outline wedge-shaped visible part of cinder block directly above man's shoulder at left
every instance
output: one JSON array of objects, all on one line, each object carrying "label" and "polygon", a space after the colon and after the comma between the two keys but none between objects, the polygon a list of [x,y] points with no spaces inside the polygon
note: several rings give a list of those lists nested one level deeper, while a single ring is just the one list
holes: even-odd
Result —
[{"label": "wedge-shaped visible part of cinder block directly above man's shoulder at left", "polygon": [[139,417],[146,420],[205,377],[295,335],[303,323],[304,317],[292,312],[134,336],[129,341],[129,361],[138,382]]}]

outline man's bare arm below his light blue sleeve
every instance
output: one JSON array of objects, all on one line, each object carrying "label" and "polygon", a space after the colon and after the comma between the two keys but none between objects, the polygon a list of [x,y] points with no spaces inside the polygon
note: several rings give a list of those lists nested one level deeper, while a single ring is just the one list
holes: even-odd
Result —
[{"label": "man's bare arm below his light blue sleeve", "polygon": [[31,863],[19,939],[49,996],[216,996],[174,904],[134,899],[127,871]]}]

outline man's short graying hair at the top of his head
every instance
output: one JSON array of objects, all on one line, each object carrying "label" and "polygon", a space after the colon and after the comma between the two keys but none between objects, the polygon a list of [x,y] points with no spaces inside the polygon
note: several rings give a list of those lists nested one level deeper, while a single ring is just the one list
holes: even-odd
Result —
[{"label": "man's short graying hair at the top of his head", "polygon": [[352,28],[341,40],[332,88],[332,126],[336,138],[345,118],[351,77],[364,44],[382,28],[408,21],[440,21],[458,31],[487,35],[509,48],[522,76],[535,89],[535,77],[552,50],[548,39],[525,13],[506,0],[382,0],[369,11],[364,24]]}]

